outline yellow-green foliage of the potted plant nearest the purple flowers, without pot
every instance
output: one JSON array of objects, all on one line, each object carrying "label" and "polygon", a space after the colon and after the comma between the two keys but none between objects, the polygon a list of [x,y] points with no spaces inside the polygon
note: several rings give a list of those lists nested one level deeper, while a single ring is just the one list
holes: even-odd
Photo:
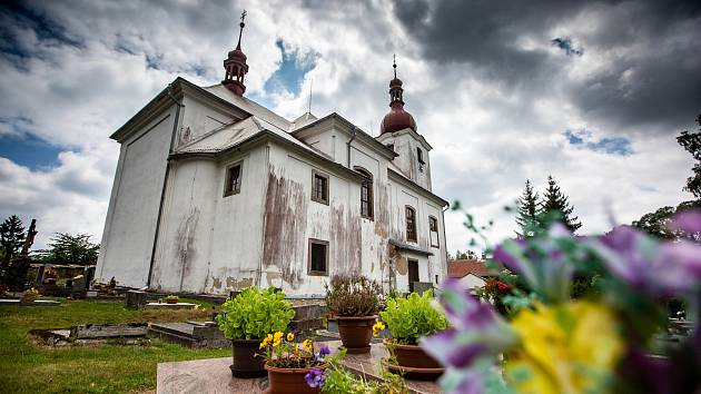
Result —
[{"label": "yellow-green foliage of the potted plant nearest the purple flowers, without pot", "polygon": [[447,328],[447,319],[431,305],[433,292],[409,294],[406,298],[388,298],[385,312],[379,314],[392,331],[392,338],[405,345],[415,345],[422,336]]}]

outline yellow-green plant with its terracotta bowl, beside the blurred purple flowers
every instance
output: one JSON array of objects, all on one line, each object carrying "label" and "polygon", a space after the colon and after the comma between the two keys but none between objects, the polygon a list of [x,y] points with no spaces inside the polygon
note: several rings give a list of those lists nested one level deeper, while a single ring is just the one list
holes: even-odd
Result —
[{"label": "yellow-green plant with its terracotta bowl, beside the blurred purple flowers", "polygon": [[423,295],[412,293],[406,298],[388,298],[385,311],[379,314],[392,332],[392,336],[384,341],[385,346],[399,367],[441,368],[441,364],[418,346],[422,336],[447,328],[447,319],[432,306],[432,302],[433,290]]}]

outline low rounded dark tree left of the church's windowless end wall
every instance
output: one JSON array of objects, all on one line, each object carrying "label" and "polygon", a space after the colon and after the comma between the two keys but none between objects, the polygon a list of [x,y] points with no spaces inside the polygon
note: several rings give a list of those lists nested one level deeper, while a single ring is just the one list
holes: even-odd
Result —
[{"label": "low rounded dark tree left of the church's windowless end wall", "polygon": [[92,265],[97,263],[100,249],[87,234],[57,233],[48,246],[48,249],[39,250],[38,255],[43,263],[49,264]]}]

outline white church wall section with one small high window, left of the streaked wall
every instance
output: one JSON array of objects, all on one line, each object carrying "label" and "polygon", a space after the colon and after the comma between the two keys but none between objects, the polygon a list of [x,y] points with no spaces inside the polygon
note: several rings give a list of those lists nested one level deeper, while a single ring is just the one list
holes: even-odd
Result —
[{"label": "white church wall section with one small high window, left of the streaked wall", "polygon": [[[226,170],[241,165],[240,193],[224,196]],[[257,284],[267,148],[219,160],[174,162],[152,288],[228,294]]]}]

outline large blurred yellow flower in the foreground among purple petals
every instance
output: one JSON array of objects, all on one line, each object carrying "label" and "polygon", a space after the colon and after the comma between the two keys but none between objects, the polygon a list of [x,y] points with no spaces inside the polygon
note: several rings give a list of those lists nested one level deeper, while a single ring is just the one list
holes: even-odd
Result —
[{"label": "large blurred yellow flower in the foreground among purple petals", "polygon": [[511,323],[522,346],[506,377],[520,394],[606,393],[624,352],[616,316],[604,305],[573,302],[523,311]]}]

